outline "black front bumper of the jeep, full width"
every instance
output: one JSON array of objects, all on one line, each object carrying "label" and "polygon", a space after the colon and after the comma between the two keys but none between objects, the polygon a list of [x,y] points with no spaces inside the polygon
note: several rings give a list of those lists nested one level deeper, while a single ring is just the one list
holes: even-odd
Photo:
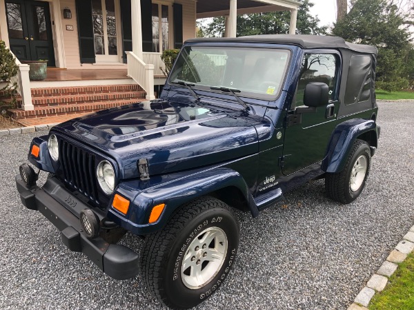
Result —
[{"label": "black front bumper of the jeep, full width", "polygon": [[[89,208],[86,203],[73,196],[57,180],[48,179],[43,188],[28,187],[21,176],[16,178],[21,202],[28,209],[37,210],[61,231],[62,242],[71,251],[82,252],[104,273],[117,280],[133,278],[138,274],[139,256],[123,245],[110,244],[97,237],[88,239],[76,216],[77,210]],[[69,207],[63,202],[70,197]],[[76,202],[74,209],[70,211]]]}]

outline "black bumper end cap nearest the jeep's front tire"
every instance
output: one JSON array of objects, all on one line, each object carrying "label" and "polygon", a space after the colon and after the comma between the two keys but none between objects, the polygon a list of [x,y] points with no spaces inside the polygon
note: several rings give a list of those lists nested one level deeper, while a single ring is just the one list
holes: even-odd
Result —
[{"label": "black bumper end cap nearest the jeep's front tire", "polygon": [[109,245],[103,255],[103,272],[116,280],[127,280],[139,272],[139,256],[124,245]]}]

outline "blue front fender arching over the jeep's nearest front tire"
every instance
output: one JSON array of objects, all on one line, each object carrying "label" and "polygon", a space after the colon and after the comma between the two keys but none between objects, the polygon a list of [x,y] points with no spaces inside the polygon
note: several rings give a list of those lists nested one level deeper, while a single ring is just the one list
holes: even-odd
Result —
[{"label": "blue front fender arching over the jeep's nearest front tire", "polygon": [[[128,197],[131,194],[133,182],[137,181],[121,183],[117,192]],[[215,192],[226,190],[226,187],[237,189],[242,194],[253,217],[259,215],[259,209],[248,191],[244,178],[233,169],[220,167],[144,189],[136,194],[135,198],[130,198],[133,203],[126,217],[121,216],[112,207],[108,209],[108,217],[134,234],[149,234],[164,227],[174,211],[181,205],[201,196],[215,196]],[[152,207],[161,203],[166,204],[161,216],[157,222],[148,224]]]}]

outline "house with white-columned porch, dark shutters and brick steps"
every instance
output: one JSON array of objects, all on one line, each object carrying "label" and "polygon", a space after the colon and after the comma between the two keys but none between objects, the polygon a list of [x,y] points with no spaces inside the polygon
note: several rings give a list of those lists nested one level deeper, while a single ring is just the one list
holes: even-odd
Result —
[{"label": "house with white-columned porch, dark shutters and brick steps", "polygon": [[[301,4],[297,0],[0,0],[0,39],[19,65],[15,79],[20,111],[13,113],[30,118],[92,112],[140,97],[154,99],[155,85],[165,83],[161,53],[195,37],[196,19],[226,16],[226,36],[235,37],[237,14],[290,10],[294,34]],[[48,79],[29,81],[28,65],[21,61],[39,59],[48,59]]]}]

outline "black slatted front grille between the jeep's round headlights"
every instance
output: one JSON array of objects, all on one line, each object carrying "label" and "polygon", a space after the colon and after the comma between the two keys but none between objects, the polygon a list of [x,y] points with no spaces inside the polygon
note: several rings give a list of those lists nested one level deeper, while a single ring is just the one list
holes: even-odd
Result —
[{"label": "black slatted front grille between the jeep's round headlights", "polygon": [[97,202],[95,155],[68,141],[59,141],[63,179],[78,192]]}]

